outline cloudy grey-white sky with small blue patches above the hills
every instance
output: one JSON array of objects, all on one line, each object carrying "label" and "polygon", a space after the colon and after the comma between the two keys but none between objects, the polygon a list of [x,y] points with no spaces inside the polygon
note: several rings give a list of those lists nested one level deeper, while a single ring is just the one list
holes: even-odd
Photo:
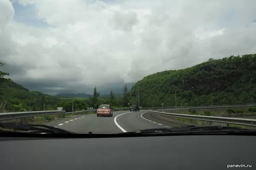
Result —
[{"label": "cloudy grey-white sky with small blue patches above the hills", "polygon": [[50,95],[256,53],[255,0],[0,0],[1,71]]}]

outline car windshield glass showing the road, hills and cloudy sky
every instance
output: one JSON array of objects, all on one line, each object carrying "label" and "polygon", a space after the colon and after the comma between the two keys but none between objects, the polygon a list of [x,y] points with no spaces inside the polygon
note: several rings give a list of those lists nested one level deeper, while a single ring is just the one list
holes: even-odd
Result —
[{"label": "car windshield glass showing the road, hills and cloudy sky", "polygon": [[255,5],[0,0],[0,123],[255,128]]}]

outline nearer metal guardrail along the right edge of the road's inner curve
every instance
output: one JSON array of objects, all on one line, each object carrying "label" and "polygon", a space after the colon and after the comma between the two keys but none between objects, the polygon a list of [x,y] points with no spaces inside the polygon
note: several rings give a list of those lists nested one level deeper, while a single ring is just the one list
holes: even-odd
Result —
[{"label": "nearer metal guardrail along the right edge of the road's inner curve", "polygon": [[227,126],[229,124],[237,124],[237,125],[256,127],[256,119],[226,118],[226,117],[201,116],[201,115],[184,115],[184,114],[177,114],[177,113],[159,112],[159,111],[153,111],[153,110],[151,110],[151,113],[154,113],[157,115],[175,117],[175,118],[186,118],[186,119],[199,120],[199,121],[211,121],[211,122],[224,123],[224,124],[227,124]]}]

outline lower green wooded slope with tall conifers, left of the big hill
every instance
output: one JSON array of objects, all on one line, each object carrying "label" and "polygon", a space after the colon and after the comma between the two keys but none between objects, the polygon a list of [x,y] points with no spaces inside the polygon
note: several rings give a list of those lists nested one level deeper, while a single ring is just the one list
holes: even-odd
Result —
[{"label": "lower green wooded slope with tall conifers, left of the big hill", "polygon": [[[0,66],[4,63],[0,62]],[[66,112],[86,110],[87,107],[97,108],[100,104],[111,104],[113,107],[123,107],[127,103],[113,91],[108,96],[100,97],[100,93],[94,88],[93,95],[89,98],[61,99],[57,96],[46,95],[16,84],[11,79],[6,78],[9,74],[0,71],[0,112],[24,112],[56,110],[57,107],[64,107]],[[126,85],[125,85],[126,87]],[[127,98],[127,87],[125,88],[125,98]],[[73,105],[73,107],[72,107]]]}]

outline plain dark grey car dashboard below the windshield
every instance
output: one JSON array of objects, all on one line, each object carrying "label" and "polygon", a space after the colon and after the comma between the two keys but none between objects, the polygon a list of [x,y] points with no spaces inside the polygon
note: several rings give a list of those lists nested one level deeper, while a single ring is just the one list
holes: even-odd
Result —
[{"label": "plain dark grey car dashboard below the windshield", "polygon": [[245,135],[0,138],[2,170],[241,170],[255,153]]}]

